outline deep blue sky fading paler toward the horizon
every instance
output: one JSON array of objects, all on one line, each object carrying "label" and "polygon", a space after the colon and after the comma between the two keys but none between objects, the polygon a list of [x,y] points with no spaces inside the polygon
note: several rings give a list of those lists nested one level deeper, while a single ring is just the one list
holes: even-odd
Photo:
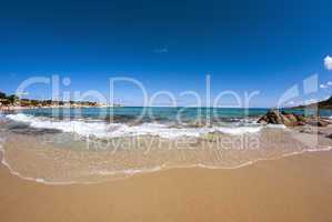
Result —
[{"label": "deep blue sky fading paler toward the horizon", "polygon": [[[251,105],[273,107],[313,73],[320,84],[332,81],[323,63],[332,54],[331,9],[328,0],[8,1],[0,8],[0,90],[59,74],[71,79],[61,90],[107,94],[109,78],[120,75],[190,105],[180,93],[203,97],[209,73],[212,97],[259,90]],[[329,88],[313,97],[328,97]],[[115,93],[124,104],[141,102],[132,85]],[[28,97],[49,98],[50,89],[34,85]]]}]

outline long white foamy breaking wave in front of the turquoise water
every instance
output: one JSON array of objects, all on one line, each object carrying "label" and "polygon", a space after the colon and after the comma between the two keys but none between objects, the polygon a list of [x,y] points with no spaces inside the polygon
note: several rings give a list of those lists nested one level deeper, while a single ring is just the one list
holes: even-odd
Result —
[{"label": "long white foamy breaking wave in front of the turquoise water", "polygon": [[124,123],[107,123],[103,121],[87,122],[83,120],[54,121],[47,118],[37,118],[23,113],[8,114],[8,119],[22,122],[31,128],[56,129],[62,132],[78,133],[82,137],[93,135],[100,139],[154,135],[165,139],[179,137],[201,137],[203,134],[220,132],[239,135],[243,133],[258,133],[262,125],[252,127],[202,127],[202,128],[174,128],[159,123],[142,123],[140,125],[127,125]]}]

